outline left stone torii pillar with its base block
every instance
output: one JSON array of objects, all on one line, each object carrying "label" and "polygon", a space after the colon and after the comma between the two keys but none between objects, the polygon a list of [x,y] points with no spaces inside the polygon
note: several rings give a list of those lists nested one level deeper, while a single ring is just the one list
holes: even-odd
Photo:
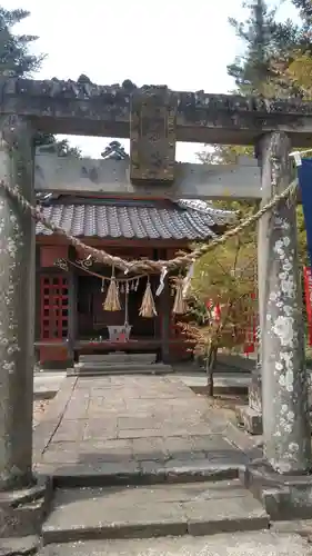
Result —
[{"label": "left stone torii pillar with its base block", "polygon": [[[30,123],[0,119],[0,179],[33,203]],[[0,187],[0,537],[34,535],[46,504],[32,475],[34,241],[30,214]]]}]

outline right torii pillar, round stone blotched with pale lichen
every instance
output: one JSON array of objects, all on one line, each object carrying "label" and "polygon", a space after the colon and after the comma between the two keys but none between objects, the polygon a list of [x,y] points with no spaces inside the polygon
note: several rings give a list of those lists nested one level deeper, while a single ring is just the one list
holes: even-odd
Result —
[{"label": "right torii pillar, round stone blotched with pale lichen", "polygon": [[[266,143],[266,145],[265,145]],[[284,133],[263,142],[262,163],[271,196],[294,179]],[[272,185],[271,185],[272,183]],[[295,200],[282,201],[266,215],[262,238],[261,360],[264,454],[279,473],[306,473],[311,467],[311,430],[304,326],[298,262]],[[262,291],[263,289],[263,291]]]}]

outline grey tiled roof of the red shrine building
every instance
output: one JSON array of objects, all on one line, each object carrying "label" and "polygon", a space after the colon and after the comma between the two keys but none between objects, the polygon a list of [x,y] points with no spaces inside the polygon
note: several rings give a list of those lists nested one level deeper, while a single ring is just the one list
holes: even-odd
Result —
[{"label": "grey tiled roof of the red shrine building", "polygon": [[[192,199],[59,198],[41,205],[46,218],[77,237],[203,240],[233,221],[231,211]],[[50,235],[41,224],[37,235]]]}]

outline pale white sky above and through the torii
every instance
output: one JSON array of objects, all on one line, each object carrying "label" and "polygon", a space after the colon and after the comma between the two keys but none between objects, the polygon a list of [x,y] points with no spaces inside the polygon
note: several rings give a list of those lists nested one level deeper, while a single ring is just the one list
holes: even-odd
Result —
[{"label": "pale white sky above and through the torii", "polygon": [[[47,53],[37,79],[77,79],[112,85],[168,85],[175,90],[227,92],[227,75],[242,46],[228,23],[243,19],[241,0],[2,0],[31,16],[17,32],[39,36],[34,52]],[[282,2],[280,18],[294,17]],[[70,137],[83,153],[100,157],[107,138]],[[128,148],[128,141],[123,141]],[[195,161],[200,145],[179,143],[177,159]]]}]

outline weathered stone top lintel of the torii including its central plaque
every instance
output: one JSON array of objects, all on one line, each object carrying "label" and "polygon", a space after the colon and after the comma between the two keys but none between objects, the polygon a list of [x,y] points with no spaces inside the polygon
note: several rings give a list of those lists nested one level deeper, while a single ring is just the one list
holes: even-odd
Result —
[{"label": "weathered stone top lintel of the torii including its central plaque", "polygon": [[2,117],[28,118],[38,131],[130,138],[132,183],[173,183],[177,141],[255,145],[275,130],[311,146],[312,102],[268,100],[167,86],[138,88],[78,81],[0,78]]}]

